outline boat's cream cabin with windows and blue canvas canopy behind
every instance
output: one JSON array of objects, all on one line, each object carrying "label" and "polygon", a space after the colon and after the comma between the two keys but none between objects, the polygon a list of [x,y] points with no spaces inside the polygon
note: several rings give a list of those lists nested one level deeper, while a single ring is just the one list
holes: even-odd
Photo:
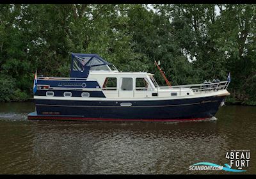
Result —
[{"label": "boat's cream cabin with windows and blue canvas canopy behind", "polygon": [[[166,97],[192,94],[191,89],[162,89],[159,94],[159,85],[154,75],[147,72],[119,72],[115,65],[101,58],[98,54],[74,54],[70,77],[97,80],[107,98],[140,98]],[[167,94],[168,93],[168,94]],[[179,93],[179,94],[178,94]]]}]

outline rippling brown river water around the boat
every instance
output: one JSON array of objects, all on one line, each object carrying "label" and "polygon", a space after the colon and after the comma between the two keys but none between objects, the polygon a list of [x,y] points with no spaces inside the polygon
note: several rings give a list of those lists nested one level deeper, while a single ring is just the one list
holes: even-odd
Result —
[{"label": "rippling brown river water around the boat", "polygon": [[256,107],[224,106],[216,118],[179,123],[28,121],[33,103],[0,103],[0,174],[234,174],[189,171],[250,150],[256,173]]}]

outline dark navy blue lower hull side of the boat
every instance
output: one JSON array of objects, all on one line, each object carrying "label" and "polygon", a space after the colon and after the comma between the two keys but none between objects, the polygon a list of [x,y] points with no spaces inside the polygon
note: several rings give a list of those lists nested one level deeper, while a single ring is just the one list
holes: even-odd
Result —
[{"label": "dark navy blue lower hull side of the boat", "polygon": [[[38,116],[92,119],[172,120],[211,118],[225,97],[148,101],[35,100]],[[122,102],[131,106],[121,106]]]}]

